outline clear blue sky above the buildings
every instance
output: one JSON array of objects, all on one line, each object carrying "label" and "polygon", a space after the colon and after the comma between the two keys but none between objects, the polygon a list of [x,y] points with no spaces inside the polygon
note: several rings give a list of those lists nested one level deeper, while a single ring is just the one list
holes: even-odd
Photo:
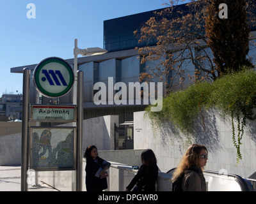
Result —
[{"label": "clear blue sky above the buildings", "polygon": [[[0,97],[22,93],[22,74],[10,68],[47,57],[74,58],[79,48],[103,48],[103,22],[165,8],[167,0],[0,0]],[[28,18],[29,3],[35,18]],[[31,13],[29,13],[31,14]]]}]

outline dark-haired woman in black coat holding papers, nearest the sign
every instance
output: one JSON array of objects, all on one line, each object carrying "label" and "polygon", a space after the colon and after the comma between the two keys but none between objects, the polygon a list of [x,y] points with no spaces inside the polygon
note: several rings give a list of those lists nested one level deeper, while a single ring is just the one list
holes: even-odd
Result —
[{"label": "dark-haired woman in black coat holding papers, nearest the sign", "polygon": [[98,156],[98,150],[95,145],[89,145],[84,153],[86,158],[86,191],[102,191],[108,188],[106,177],[109,166],[108,161]]}]

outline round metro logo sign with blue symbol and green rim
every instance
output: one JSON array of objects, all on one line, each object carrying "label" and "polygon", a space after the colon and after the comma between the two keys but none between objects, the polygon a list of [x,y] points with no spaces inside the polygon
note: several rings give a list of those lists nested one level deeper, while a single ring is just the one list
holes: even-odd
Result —
[{"label": "round metro logo sign with blue symbol and green rim", "polygon": [[34,83],[44,96],[57,98],[70,91],[74,84],[74,73],[65,60],[49,57],[36,66]]}]

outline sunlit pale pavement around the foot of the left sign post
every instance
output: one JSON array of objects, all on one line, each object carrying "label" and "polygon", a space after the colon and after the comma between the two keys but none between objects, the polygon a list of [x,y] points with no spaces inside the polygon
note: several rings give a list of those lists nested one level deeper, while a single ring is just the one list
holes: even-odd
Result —
[{"label": "sunlit pale pavement around the foot of the left sign post", "polygon": [[[20,166],[0,166],[0,191],[21,191]],[[38,179],[38,185],[28,185],[28,191],[58,191]]]}]

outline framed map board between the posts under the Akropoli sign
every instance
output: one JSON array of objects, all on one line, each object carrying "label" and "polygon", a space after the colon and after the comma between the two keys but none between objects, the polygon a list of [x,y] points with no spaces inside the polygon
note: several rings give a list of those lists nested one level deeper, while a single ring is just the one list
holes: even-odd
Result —
[{"label": "framed map board between the posts under the Akropoli sign", "polygon": [[30,144],[31,169],[76,170],[75,127],[31,127]]}]

